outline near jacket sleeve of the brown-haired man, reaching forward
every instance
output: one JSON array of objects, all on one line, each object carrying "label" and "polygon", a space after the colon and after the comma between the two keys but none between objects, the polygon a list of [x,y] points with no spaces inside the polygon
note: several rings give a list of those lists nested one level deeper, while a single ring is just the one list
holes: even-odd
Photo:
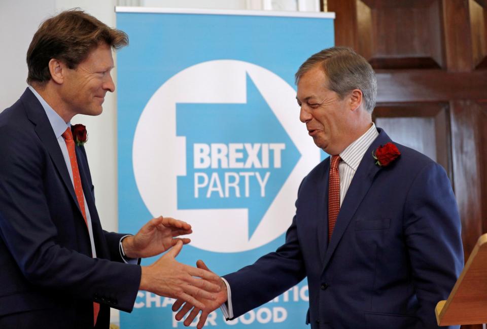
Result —
[{"label": "near jacket sleeve of the brown-haired man, reaching forward", "polygon": [[9,127],[0,130],[0,236],[33,285],[131,311],[140,266],[92,259],[56,243],[43,175],[52,164],[33,137]]}]

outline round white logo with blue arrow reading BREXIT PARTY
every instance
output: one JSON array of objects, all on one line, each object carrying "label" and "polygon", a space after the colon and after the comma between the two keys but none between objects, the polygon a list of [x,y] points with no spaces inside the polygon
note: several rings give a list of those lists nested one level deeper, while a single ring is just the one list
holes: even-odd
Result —
[{"label": "round white logo with blue arrow reading BREXIT PARTY", "polygon": [[237,60],[203,62],[167,80],[133,140],[149,211],[185,218],[192,245],[208,251],[250,250],[282,235],[301,179],[320,160],[295,97],[273,72]]}]

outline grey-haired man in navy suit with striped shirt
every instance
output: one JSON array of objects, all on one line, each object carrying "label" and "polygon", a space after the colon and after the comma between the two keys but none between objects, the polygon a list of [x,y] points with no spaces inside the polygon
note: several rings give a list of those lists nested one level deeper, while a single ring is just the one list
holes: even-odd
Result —
[{"label": "grey-haired man in navy suit with striped shirt", "polygon": [[[464,265],[445,171],[375,127],[374,72],[353,50],[312,55],[296,82],[300,120],[331,156],[303,179],[285,244],[225,275],[197,327],[222,304],[235,318],[307,277],[313,329],[436,328],[436,303]],[[189,325],[200,311],[191,304],[176,318],[190,310]]]}]

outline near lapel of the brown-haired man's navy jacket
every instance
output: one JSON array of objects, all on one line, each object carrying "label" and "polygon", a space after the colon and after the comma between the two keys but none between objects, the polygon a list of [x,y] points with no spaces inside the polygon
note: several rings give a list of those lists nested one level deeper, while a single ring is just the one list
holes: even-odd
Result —
[{"label": "near lapel of the brown-haired man's navy jacket", "polygon": [[78,200],[76,199],[75,189],[73,188],[73,183],[69,177],[69,172],[67,171],[66,162],[64,161],[61,149],[59,148],[59,143],[54,135],[51,123],[47,118],[44,108],[29,89],[27,89],[20,98],[26,105],[25,112],[27,114],[27,118],[36,126],[34,130],[42,140],[46,150],[49,152],[52,162],[54,163],[59,176],[61,176],[64,186],[69,191],[69,194],[73,198],[73,201],[81,213]]}]

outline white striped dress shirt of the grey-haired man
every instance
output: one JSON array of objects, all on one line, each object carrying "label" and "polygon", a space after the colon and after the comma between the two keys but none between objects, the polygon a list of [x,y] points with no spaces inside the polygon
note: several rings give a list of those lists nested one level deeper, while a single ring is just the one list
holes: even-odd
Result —
[{"label": "white striped dress shirt of the grey-haired man", "polygon": [[[377,128],[372,123],[372,127],[369,130],[339,154],[341,158],[340,164],[338,165],[338,171],[340,173],[340,207],[345,198],[346,191],[349,190],[360,161],[362,161],[365,152],[378,135]],[[372,155],[370,155],[370,158],[372,158]]]}]

